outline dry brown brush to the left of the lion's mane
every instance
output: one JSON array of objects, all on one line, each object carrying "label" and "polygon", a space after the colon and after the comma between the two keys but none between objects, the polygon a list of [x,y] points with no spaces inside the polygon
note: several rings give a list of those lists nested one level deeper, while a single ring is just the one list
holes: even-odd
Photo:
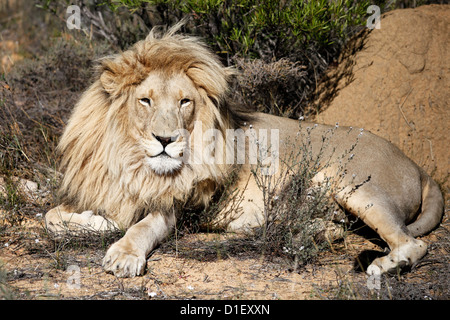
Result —
[{"label": "dry brown brush to the left of the lion's mane", "polygon": [[[37,208],[41,212],[56,197],[59,136],[76,100],[90,84],[95,58],[107,50],[101,43],[92,46],[83,36],[60,37],[37,59],[16,63],[0,81],[0,174],[6,182],[28,179],[50,191],[45,208]],[[14,210],[20,206],[13,200],[20,199],[21,190],[11,183],[6,187],[0,205],[12,210],[9,218],[19,217]]]}]

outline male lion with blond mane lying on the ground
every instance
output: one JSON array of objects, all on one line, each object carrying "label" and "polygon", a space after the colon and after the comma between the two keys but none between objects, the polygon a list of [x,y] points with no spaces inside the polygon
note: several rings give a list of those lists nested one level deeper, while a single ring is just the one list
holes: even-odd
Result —
[{"label": "male lion with blond mane lying on the ground", "polygon": [[[225,137],[267,129],[277,146],[270,150],[274,157],[258,160],[260,169],[270,165],[264,174],[276,178],[288,154],[310,145],[305,152],[324,159],[316,162],[313,185],[327,186],[330,198],[387,242],[390,253],[375,259],[369,273],[411,266],[425,255],[426,243],[414,237],[440,222],[443,198],[424,170],[363,130],[237,112],[225,99],[233,70],[177,29],[161,36],[152,31],[101,60],[59,143],[65,175],[62,204],[45,217],[50,231],[127,229],[103,266],[119,277],[141,275],[149,252],[174,228],[177,211],[185,204],[207,206],[236,168],[242,198],[227,227],[256,227],[264,221],[264,199],[249,161],[255,145],[246,144],[242,161],[242,150]],[[256,147],[262,142],[260,134]]]}]

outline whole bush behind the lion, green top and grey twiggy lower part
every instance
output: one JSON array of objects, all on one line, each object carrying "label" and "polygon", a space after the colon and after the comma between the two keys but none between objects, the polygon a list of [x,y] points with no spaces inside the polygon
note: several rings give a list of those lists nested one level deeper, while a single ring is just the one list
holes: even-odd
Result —
[{"label": "whole bush behind the lion, green top and grey twiggy lower part", "polygon": [[[65,14],[67,4],[62,1],[40,2],[59,16]],[[75,4],[82,8],[85,32],[91,32],[92,27],[95,35],[116,48],[124,49],[143,39],[154,26],[173,25],[190,16],[183,31],[205,39],[226,65],[239,64],[245,73],[254,66],[242,61],[260,59],[258,65],[268,64],[260,72],[263,79],[272,76],[264,71],[282,59],[283,67],[293,67],[285,71],[295,77],[271,81],[278,89],[271,90],[272,97],[265,97],[267,84],[246,87],[237,83],[233,91],[243,92],[240,98],[247,105],[255,103],[250,98],[264,97],[256,101],[266,105],[262,111],[298,117],[306,112],[320,75],[365,23],[369,1],[117,0]],[[301,74],[298,66],[304,66]],[[293,81],[286,83],[289,80]]]}]

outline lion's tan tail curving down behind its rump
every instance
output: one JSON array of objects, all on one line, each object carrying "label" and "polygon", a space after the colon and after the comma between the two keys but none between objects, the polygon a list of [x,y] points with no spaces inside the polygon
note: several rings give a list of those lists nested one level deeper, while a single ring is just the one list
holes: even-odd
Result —
[{"label": "lion's tan tail curving down behind its rump", "polygon": [[444,213],[444,198],[437,183],[422,171],[422,210],[417,219],[407,226],[413,237],[433,230]]}]

